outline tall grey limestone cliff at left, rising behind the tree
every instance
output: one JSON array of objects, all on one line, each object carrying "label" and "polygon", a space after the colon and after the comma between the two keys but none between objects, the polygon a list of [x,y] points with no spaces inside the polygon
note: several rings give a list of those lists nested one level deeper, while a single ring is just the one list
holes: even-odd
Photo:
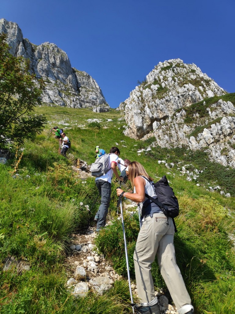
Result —
[{"label": "tall grey limestone cliff at left, rising behind the tree", "polygon": [[28,58],[31,72],[44,80],[44,103],[72,108],[99,107],[98,112],[109,110],[97,82],[86,72],[72,68],[67,54],[55,44],[45,42],[36,46],[23,38],[16,23],[5,19],[0,19],[2,32],[8,35],[10,52]]}]

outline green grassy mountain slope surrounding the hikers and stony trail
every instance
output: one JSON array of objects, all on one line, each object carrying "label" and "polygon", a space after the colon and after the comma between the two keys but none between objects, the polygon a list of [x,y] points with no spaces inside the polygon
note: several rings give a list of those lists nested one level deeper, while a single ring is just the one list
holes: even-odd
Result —
[{"label": "green grassy mountain slope surrounding the hikers and stony trail", "polygon": [[[72,172],[71,165],[77,159],[88,164],[94,160],[96,145],[109,151],[118,146],[122,158],[137,160],[157,180],[166,172],[180,203],[180,216],[175,219],[178,233],[175,236],[177,263],[192,297],[196,313],[231,313],[234,308],[234,209],[235,198],[224,198],[220,193],[209,192],[196,182],[186,181],[186,176],[177,170],[177,162],[188,162],[190,154],[152,148],[140,155],[137,150],[146,148],[151,140],[136,141],[123,135],[123,113],[111,110],[94,113],[86,109],[61,107],[38,107],[37,113],[45,113],[48,125],[34,141],[24,145],[24,154],[0,164],[0,263],[14,256],[30,265],[30,271],[18,275],[14,269],[0,273],[0,312],[6,313],[131,313],[128,307],[128,284],[124,281],[103,296],[90,293],[85,298],[73,299],[67,293],[67,274],[63,264],[69,250],[71,233],[89,225],[98,204],[88,214],[83,204],[91,204],[97,197],[93,178],[86,183]],[[100,128],[89,126],[100,119]],[[88,120],[88,121],[87,121]],[[110,121],[112,120],[112,121]],[[58,142],[50,135],[51,127],[58,125],[71,140],[68,159],[58,155]],[[94,124],[93,124],[94,125]],[[192,158],[192,156],[191,156]],[[175,162],[170,170],[158,160]],[[192,163],[201,160],[200,156]],[[204,160],[205,167],[212,163]],[[14,165],[17,178],[13,178]],[[206,168],[205,168],[206,169]],[[229,170],[230,171],[230,170]],[[232,170],[231,170],[232,171]],[[204,171],[205,172],[205,171]],[[202,174],[204,173],[202,172]],[[232,172],[226,172],[226,176]],[[216,181],[216,176],[198,178],[200,183]],[[201,180],[201,181],[200,181]],[[204,180],[204,181],[203,181]],[[207,181],[208,180],[208,181]],[[228,183],[227,183],[228,184]],[[123,234],[120,220],[116,219],[115,193],[107,226],[97,237],[97,246],[114,268],[126,274],[123,254]],[[133,249],[138,234],[138,217],[125,214],[128,253],[131,276],[133,273]],[[157,263],[153,265],[156,289],[165,288],[159,275]],[[177,289],[177,287],[176,287]]]}]

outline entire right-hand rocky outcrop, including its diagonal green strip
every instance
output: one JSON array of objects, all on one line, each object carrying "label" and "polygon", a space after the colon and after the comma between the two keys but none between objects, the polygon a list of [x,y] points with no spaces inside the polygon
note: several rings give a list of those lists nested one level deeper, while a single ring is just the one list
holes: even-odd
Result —
[{"label": "entire right-hand rocky outcrop, including its diagonal green strip", "polygon": [[124,134],[154,136],[164,148],[207,150],[212,161],[235,167],[235,96],[227,94],[195,64],[159,62],[120,104]]}]

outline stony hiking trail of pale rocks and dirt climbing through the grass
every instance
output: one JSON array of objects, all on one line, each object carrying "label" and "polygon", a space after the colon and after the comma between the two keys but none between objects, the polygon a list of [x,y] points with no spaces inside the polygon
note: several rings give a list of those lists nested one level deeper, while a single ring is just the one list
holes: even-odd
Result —
[{"label": "stony hiking trail of pale rocks and dirt climbing through the grass", "polygon": [[[90,177],[89,166],[82,160],[77,161],[77,166],[72,166],[76,171],[76,176],[85,180]],[[84,181],[85,183],[85,181]],[[134,203],[127,206],[123,204],[123,209],[134,210]],[[120,212],[119,212],[120,213]],[[121,215],[120,215],[121,219]],[[112,224],[108,221],[107,225]],[[96,225],[91,225],[83,233],[71,235],[70,252],[65,259],[65,268],[68,274],[67,287],[75,297],[85,296],[89,291],[102,295],[103,291],[112,287],[116,280],[124,279],[115,272],[112,265],[105,259],[103,254],[97,251],[94,239],[97,236]],[[131,283],[133,297],[138,297],[136,285]],[[162,314],[177,314],[174,306],[169,304],[163,291],[155,291],[159,298],[159,306]]]}]

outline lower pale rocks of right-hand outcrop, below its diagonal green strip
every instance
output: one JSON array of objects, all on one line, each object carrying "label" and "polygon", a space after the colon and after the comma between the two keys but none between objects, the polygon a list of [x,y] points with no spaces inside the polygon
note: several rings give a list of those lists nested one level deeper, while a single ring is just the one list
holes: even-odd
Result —
[{"label": "lower pale rocks of right-hand outcrop, below its diagonal green strip", "polygon": [[[206,149],[212,161],[235,168],[235,107],[230,101],[219,100],[206,108],[205,119],[195,119],[192,125],[184,122],[185,110],[153,123],[156,142],[161,147],[186,146],[192,150]],[[216,122],[219,120],[219,122]],[[214,122],[214,123],[213,123]],[[196,132],[195,129],[201,131]],[[193,133],[194,132],[194,133]],[[195,134],[191,136],[191,133]]]}]

